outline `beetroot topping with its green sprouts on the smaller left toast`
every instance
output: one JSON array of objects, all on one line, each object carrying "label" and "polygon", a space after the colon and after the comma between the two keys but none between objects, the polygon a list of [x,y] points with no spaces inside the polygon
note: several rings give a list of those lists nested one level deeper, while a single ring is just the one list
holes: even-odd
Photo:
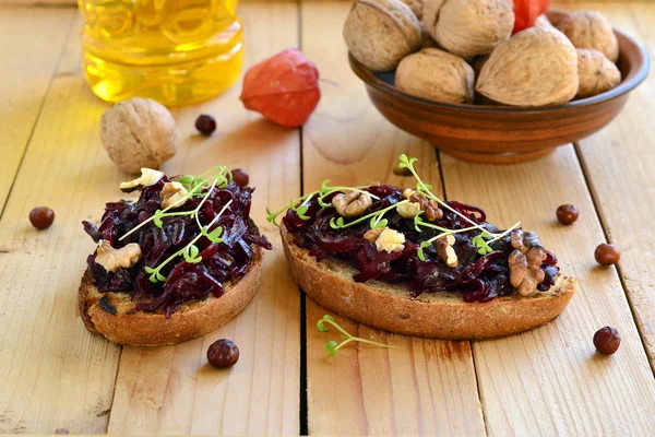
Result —
[{"label": "beetroot topping with its green sprouts on the smaller left toast", "polygon": [[[191,300],[221,297],[230,281],[248,271],[253,245],[272,249],[250,220],[254,189],[233,181],[225,167],[216,172],[206,179],[163,176],[140,187],[136,202],[107,203],[99,227],[82,222],[96,243],[105,240],[116,249],[135,243],[141,248],[134,265],[116,271],[107,271],[95,262],[95,255],[88,256],[88,272],[100,293],[127,293],[136,309],[163,311],[169,318]],[[168,209],[160,198],[167,185],[179,196]]]}]

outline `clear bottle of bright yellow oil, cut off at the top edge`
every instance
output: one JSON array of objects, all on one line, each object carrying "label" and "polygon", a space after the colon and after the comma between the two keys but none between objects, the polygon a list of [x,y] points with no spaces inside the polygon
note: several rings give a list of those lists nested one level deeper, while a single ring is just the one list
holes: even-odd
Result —
[{"label": "clear bottle of bright yellow oil, cut off at the top edge", "polygon": [[100,98],[181,105],[213,97],[243,61],[238,0],[78,0],[82,66]]}]

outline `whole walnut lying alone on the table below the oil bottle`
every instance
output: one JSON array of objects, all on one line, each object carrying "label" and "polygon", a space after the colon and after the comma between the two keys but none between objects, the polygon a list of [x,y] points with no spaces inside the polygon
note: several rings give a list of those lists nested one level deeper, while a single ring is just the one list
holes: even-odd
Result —
[{"label": "whole walnut lying alone on the table below the oil bottle", "polygon": [[130,98],[107,110],[100,120],[100,138],[111,161],[128,173],[158,168],[178,146],[172,116],[150,98]]}]

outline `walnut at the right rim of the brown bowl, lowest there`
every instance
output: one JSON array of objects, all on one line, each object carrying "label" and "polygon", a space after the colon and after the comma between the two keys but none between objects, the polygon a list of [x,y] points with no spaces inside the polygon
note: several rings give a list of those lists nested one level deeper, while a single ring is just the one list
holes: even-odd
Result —
[{"label": "walnut at the right rim of the brown bowl, lowest there", "polygon": [[577,87],[579,98],[605,93],[621,82],[621,72],[617,66],[600,51],[579,48],[577,51]]}]

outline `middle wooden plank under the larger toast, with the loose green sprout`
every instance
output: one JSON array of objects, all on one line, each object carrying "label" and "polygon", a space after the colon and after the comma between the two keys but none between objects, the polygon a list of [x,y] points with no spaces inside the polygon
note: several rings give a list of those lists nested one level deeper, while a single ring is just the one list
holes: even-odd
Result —
[{"label": "middle wooden plank under the larger toast, with the loose green sprout", "polygon": [[[302,49],[317,62],[323,97],[303,129],[303,190],[323,179],[344,185],[395,176],[397,156],[420,158],[420,170],[440,190],[439,166],[427,144],[392,127],[368,101],[349,70],[341,29],[349,3],[302,3]],[[326,311],[307,300],[308,426],[311,435],[483,435],[475,370],[468,342],[442,342],[386,334],[337,318],[353,333],[397,350],[346,347],[329,357],[334,335],[317,331]]]}]

